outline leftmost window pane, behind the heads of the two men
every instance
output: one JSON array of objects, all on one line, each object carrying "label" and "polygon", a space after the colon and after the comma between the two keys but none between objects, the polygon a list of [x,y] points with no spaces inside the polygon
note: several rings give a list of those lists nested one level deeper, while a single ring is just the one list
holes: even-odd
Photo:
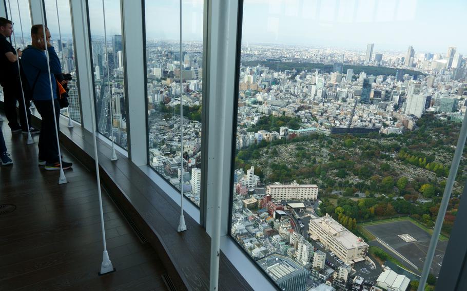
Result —
[{"label": "leftmost window pane, behind the heads of the two men", "polygon": [[[19,4],[19,7],[18,7]],[[8,19],[13,22],[13,35],[11,35],[12,46],[24,49],[31,43],[31,13],[28,0],[6,0],[5,2]],[[10,13],[11,8],[11,13]],[[3,88],[0,87],[0,100],[4,100]]]}]

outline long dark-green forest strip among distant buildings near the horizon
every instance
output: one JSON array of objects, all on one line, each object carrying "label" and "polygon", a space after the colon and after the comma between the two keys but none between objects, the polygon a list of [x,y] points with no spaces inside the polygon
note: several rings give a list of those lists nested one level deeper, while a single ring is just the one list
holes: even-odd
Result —
[{"label": "long dark-green forest strip among distant buildings near the horizon", "polygon": [[[280,61],[280,60],[250,60],[244,61],[242,63],[243,66],[247,67],[256,67],[260,64],[261,66],[268,67],[271,70],[275,71],[285,71],[285,70],[297,70],[298,72],[307,70],[313,71],[315,69],[319,69],[321,73],[332,73],[333,72],[333,64],[319,64],[319,63],[297,63],[295,61]],[[353,66],[353,65],[344,65],[343,74],[347,73],[347,69],[353,69],[354,74],[360,74],[361,72],[365,72],[366,75],[385,75],[385,76],[395,76],[396,70],[394,68],[387,68],[387,67],[376,67],[376,66]],[[402,71],[402,75],[408,74],[413,76],[414,74],[417,75],[426,75],[419,71],[414,70],[406,70],[406,69],[398,69]]]}]

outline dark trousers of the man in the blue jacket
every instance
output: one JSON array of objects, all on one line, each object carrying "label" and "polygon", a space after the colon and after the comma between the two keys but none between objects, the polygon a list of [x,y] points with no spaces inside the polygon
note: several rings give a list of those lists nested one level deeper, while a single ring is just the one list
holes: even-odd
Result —
[{"label": "dark trousers of the man in the blue jacket", "polygon": [[59,116],[60,116],[60,104],[57,99],[54,99],[55,103],[55,118],[57,121],[57,127],[53,120],[53,108],[51,100],[34,100],[37,112],[41,114],[41,133],[39,135],[39,159],[45,160],[48,163],[54,163],[59,161],[59,146],[57,144],[56,132],[59,131]]}]

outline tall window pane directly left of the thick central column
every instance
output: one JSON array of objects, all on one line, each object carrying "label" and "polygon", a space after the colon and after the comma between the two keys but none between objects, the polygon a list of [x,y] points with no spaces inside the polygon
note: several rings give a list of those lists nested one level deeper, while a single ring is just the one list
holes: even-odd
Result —
[{"label": "tall window pane directly left of the thick central column", "polygon": [[[180,100],[183,94],[183,193],[200,205],[203,1],[183,1],[183,53],[177,1],[146,1],[149,164],[181,189]],[[161,26],[161,23],[170,23]],[[180,90],[182,61],[183,92]]]}]

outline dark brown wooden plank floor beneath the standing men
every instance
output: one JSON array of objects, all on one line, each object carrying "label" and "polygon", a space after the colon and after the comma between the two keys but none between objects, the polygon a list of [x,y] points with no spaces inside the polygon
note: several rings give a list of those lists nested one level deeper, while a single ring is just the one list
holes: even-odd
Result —
[{"label": "dark brown wooden plank floor beneath the standing men", "polygon": [[[0,122],[13,165],[0,166],[0,290],[166,290],[162,262],[142,244],[103,192],[107,250],[115,273],[98,276],[103,244],[95,175],[73,162],[68,184],[37,165],[38,135],[11,134]],[[1,211],[1,209],[0,209]]]}]

